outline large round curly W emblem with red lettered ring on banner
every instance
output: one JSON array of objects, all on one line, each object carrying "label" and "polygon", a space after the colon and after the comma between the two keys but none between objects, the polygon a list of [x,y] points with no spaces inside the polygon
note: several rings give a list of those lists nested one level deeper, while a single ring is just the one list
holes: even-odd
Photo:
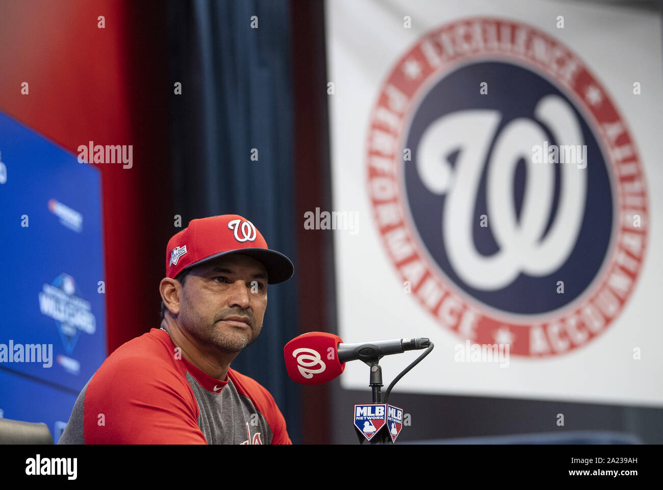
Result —
[{"label": "large round curly W emblem with red lettered ring on banner", "polygon": [[544,357],[619,317],[646,253],[646,180],[569,48],[515,21],[456,21],[398,60],[373,109],[375,224],[442,328]]}]

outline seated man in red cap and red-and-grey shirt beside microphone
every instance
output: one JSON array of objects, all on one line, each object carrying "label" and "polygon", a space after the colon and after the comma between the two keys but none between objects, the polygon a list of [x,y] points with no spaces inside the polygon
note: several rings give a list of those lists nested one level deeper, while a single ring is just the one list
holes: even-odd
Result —
[{"label": "seated man in red cap and red-and-grey shirt beside microphone", "polygon": [[76,399],[58,444],[292,444],[272,395],[231,369],[260,334],[288,257],[251,221],[190,221],[166,247],[160,328],[115,350]]}]

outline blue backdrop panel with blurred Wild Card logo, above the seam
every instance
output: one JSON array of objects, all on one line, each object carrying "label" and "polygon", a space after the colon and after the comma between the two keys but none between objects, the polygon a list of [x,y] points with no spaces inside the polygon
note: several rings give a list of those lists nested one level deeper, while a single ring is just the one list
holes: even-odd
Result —
[{"label": "blue backdrop panel with blurred Wild Card logo, above the seam", "polygon": [[0,367],[78,391],[106,355],[100,172],[3,113],[0,161]]}]

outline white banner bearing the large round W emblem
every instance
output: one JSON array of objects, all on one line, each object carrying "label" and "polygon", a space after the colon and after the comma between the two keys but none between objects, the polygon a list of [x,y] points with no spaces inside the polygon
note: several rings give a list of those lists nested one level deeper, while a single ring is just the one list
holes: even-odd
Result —
[{"label": "white banner bearing the large round W emblem", "polygon": [[333,0],[326,21],[343,341],[432,339],[397,391],[663,406],[660,16]]}]

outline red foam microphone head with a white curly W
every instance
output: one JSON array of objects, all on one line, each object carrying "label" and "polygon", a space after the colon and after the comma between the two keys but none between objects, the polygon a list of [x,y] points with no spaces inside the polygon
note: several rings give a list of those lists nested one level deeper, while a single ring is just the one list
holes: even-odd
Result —
[{"label": "red foam microphone head with a white curly W", "polygon": [[345,363],[338,360],[341,337],[326,332],[309,332],[286,343],[283,355],[288,376],[304,385],[322,385],[343,373]]}]

